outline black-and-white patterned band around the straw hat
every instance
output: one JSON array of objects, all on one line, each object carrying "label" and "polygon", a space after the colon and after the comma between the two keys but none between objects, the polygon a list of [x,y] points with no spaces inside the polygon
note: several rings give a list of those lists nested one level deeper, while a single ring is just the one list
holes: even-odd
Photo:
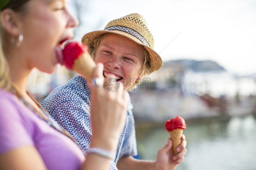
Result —
[{"label": "black-and-white patterned band around the straw hat", "polygon": [[116,30],[116,31],[123,31],[123,32],[126,32],[132,36],[135,36],[137,39],[139,39],[143,44],[147,45],[150,47],[148,41],[137,31],[135,31],[134,29],[132,28],[129,28],[129,27],[126,27],[126,26],[110,26],[110,27],[107,27],[106,29],[104,30],[107,30],[107,31],[113,31],[113,30]]}]

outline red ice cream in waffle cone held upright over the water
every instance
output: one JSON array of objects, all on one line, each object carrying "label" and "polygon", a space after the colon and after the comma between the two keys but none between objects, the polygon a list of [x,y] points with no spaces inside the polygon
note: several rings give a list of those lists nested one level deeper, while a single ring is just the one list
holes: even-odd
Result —
[{"label": "red ice cream in waffle cone held upright over the water", "polygon": [[181,136],[186,127],[187,125],[185,124],[185,120],[180,116],[176,116],[171,120],[166,121],[165,128],[170,133],[174,155],[178,153],[177,147],[181,143]]}]

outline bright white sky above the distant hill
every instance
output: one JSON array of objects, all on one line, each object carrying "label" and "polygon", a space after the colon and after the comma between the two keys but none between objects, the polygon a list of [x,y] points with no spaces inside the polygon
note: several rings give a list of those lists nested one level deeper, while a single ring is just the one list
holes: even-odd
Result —
[{"label": "bright white sky above the distant hill", "polygon": [[[256,73],[256,0],[80,0],[79,7],[76,40],[111,20],[139,13],[164,62],[211,60],[230,73]],[[70,8],[77,15],[71,1]]]}]

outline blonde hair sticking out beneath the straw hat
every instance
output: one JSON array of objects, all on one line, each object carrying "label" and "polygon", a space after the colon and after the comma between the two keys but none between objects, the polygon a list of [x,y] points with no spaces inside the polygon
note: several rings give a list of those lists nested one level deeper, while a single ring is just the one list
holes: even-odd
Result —
[{"label": "blonde hair sticking out beneath the straw hat", "polygon": [[[92,56],[93,60],[95,60],[96,51],[99,47],[101,40],[104,38],[105,34],[102,34],[102,35],[96,37],[94,39],[94,44],[89,45],[88,52]],[[141,67],[141,71],[140,71],[139,75],[140,76],[147,75],[150,73],[150,71],[151,71],[151,67],[150,67],[149,53],[146,50],[146,48],[144,48],[144,62],[143,62],[143,66]],[[136,80],[130,88],[134,88],[136,85],[139,85],[139,84],[140,84],[140,80]]]}]

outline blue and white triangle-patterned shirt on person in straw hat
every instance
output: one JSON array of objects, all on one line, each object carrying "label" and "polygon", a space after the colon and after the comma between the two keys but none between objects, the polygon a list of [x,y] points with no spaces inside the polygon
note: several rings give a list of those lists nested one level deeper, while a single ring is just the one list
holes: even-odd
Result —
[{"label": "blue and white triangle-patterned shirt on person in straw hat", "polygon": [[[90,88],[87,82],[87,79],[83,76],[76,76],[65,85],[55,88],[42,102],[42,106],[63,128],[74,136],[84,151],[90,146],[92,136]],[[127,96],[126,123],[118,147],[115,150],[115,158],[110,163],[111,170],[117,169],[115,164],[121,157],[137,155],[132,104],[128,94]]]}]

